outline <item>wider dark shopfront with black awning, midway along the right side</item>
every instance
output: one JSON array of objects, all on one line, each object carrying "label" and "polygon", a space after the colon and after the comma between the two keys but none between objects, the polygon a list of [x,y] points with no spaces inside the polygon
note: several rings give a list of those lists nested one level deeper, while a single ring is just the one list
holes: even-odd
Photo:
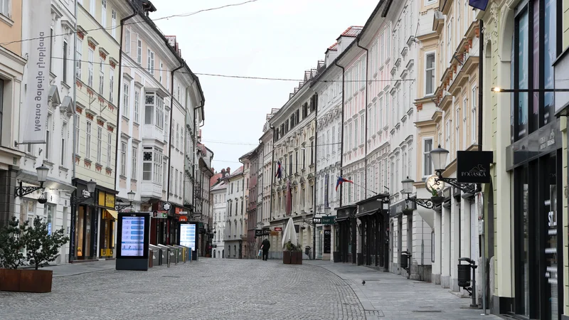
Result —
[{"label": "wider dark shopfront with black awning, midway along the right side", "polygon": [[358,210],[358,254],[357,264],[389,270],[388,194],[380,194],[356,203]]}]

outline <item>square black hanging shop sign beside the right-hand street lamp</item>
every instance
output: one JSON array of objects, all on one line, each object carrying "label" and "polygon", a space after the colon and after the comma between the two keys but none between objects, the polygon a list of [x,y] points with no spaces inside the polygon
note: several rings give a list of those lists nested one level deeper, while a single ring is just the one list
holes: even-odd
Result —
[{"label": "square black hanging shop sign beside the right-hand street lamp", "polygon": [[457,151],[457,181],[461,183],[490,183],[492,151]]}]

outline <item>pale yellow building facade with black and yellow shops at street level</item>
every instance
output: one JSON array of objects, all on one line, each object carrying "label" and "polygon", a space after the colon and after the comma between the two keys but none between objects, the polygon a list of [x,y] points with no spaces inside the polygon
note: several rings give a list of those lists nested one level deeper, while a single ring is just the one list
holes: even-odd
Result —
[{"label": "pale yellow building facade with black and yellow shops at street level", "polygon": [[[70,260],[93,260],[114,254],[119,23],[133,10],[127,1],[81,0],[77,13]],[[87,191],[91,180],[94,193]]]}]

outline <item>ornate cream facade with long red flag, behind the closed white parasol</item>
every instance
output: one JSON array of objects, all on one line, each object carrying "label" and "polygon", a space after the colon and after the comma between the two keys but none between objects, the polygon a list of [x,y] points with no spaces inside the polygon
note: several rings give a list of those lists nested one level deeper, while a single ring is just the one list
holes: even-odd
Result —
[{"label": "ornate cream facade with long red flag, behind the closed white parasol", "polygon": [[274,159],[282,169],[281,178],[272,177],[270,226],[273,230],[281,228],[281,232],[270,235],[270,258],[282,258],[282,230],[289,218],[298,225],[298,244],[312,247],[318,95],[309,87],[312,78],[323,69],[324,63],[319,62],[317,68],[305,71],[304,81],[270,119],[270,126],[275,128]]}]

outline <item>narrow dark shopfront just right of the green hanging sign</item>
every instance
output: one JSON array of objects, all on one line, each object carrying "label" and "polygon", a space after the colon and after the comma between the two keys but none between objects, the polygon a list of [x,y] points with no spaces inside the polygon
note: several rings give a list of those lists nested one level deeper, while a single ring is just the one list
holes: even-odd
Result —
[{"label": "narrow dark shopfront just right of the green hanging sign", "polygon": [[336,208],[334,262],[356,263],[356,205]]}]

